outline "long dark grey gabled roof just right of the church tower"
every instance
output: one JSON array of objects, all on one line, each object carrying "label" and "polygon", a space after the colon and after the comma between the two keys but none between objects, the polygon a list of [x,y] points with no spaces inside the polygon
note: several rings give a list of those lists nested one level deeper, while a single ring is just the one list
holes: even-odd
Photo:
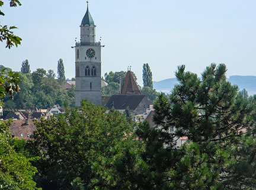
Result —
[{"label": "long dark grey gabled roof just right of the church tower", "polygon": [[109,110],[115,108],[116,110],[135,110],[146,95],[113,95],[108,100],[105,107]]}]

